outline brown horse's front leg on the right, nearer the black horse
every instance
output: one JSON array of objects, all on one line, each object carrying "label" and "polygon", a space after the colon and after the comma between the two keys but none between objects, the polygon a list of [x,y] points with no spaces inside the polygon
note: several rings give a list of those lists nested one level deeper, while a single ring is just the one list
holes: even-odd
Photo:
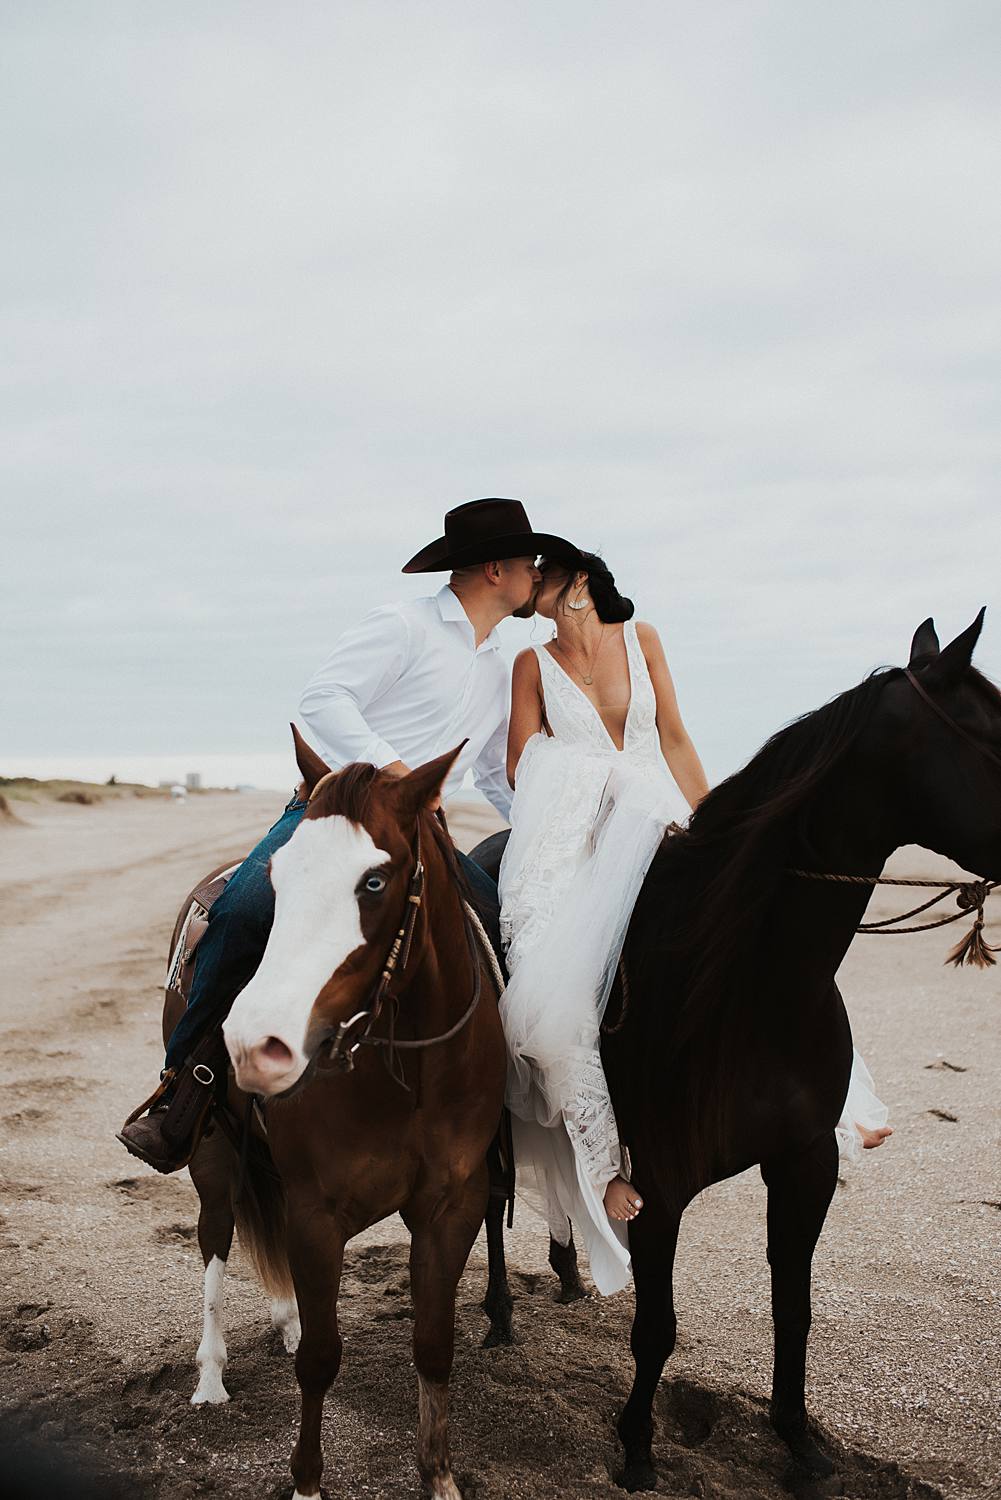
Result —
[{"label": "brown horse's front leg on the right, nearer the black horse", "polygon": [[[443,1204],[441,1197],[447,1194]],[[417,1466],[432,1500],[462,1500],[449,1455],[449,1376],[455,1353],[455,1292],[486,1208],[486,1167],[459,1188],[408,1206],[410,1290],[417,1366]]]}]

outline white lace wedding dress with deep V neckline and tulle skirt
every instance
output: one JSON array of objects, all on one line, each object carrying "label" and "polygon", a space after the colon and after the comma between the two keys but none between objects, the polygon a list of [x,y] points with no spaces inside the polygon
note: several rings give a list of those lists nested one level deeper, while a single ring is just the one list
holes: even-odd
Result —
[{"label": "white lace wedding dress with deep V neckline and tulle skirt", "polygon": [[[560,1244],[573,1221],[605,1294],[629,1280],[629,1240],[602,1202],[623,1158],[599,1029],[644,874],[668,825],[689,816],[660,752],[633,621],[624,640],[632,693],[621,750],[584,690],[545,646],[534,648],[551,735],[533,735],[518,762],[500,868],[510,975],[501,1020],[519,1191]],[[852,1089],[857,1082],[864,1089],[872,1078],[857,1080],[855,1068]],[[872,1110],[858,1090],[849,1106],[839,1144],[854,1154],[861,1143],[851,1120],[869,1124]],[[884,1120],[885,1110],[876,1124]]]}]

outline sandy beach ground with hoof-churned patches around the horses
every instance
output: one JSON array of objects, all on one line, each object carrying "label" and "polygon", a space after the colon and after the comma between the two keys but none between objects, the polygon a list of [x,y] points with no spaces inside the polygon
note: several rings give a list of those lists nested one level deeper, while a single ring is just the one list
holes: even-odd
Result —
[{"label": "sandy beach ground with hoof-churned patches around the horses", "polygon": [[[294,1374],[246,1263],[234,1252],[227,1284],[233,1401],[192,1408],[195,1194],[188,1173],[146,1172],[114,1140],[161,1064],[177,903],[243,854],[279,802],[20,804],[21,824],[0,826],[3,1407],[42,1443],[72,1442],[105,1496],[288,1492]],[[453,828],[464,831],[455,816]],[[905,850],[894,868],[944,862]],[[1001,969],[944,969],[956,932],[860,938],[842,970],[896,1126],[846,1173],[815,1260],[807,1394],[857,1497],[1001,1496]],[[345,1360],[326,1408],[332,1496],[419,1488],[405,1256],[398,1220],[348,1256]],[[459,1290],[453,1452],[467,1497],[621,1494],[612,1420],[630,1378],[632,1299],[558,1306],[545,1256],[542,1226],[521,1209],[509,1240],[513,1348],[479,1347],[482,1240]],[[777,1500],[786,1466],[765,1420],[771,1330],[753,1173],[686,1215],[677,1302],[678,1350],[657,1401],[660,1491]]]}]

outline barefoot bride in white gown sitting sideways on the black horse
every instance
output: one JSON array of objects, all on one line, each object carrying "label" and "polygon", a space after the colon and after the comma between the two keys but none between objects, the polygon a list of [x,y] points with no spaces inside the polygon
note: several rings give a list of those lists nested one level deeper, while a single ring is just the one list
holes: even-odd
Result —
[{"label": "barefoot bride in white gown sitting sideways on the black horse", "polygon": [[[576,573],[543,562],[536,610],[557,632],[515,662],[501,1018],[522,1190],[560,1244],[573,1221],[608,1294],[629,1278],[627,1224],[642,1203],[618,1142],[600,1022],[650,861],[708,783],[657,632],[632,620],[599,556],[581,556]],[[860,1062],[839,1124],[846,1155],[890,1134]]]}]

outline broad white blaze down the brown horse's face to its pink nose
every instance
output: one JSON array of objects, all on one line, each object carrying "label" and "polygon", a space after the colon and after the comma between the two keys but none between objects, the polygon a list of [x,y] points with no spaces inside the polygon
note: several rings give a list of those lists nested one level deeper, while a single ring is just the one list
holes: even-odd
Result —
[{"label": "broad white blaze down the brown horse's face to its pink nose", "polygon": [[[275,926],[260,969],[222,1028],[239,1084],[278,1094],[306,1068],[314,1000],[365,942],[357,884],[387,858],[365,828],[341,816],[305,819],[272,856]],[[293,1062],[263,1076],[254,1048],[269,1036],[288,1047]]]}]

